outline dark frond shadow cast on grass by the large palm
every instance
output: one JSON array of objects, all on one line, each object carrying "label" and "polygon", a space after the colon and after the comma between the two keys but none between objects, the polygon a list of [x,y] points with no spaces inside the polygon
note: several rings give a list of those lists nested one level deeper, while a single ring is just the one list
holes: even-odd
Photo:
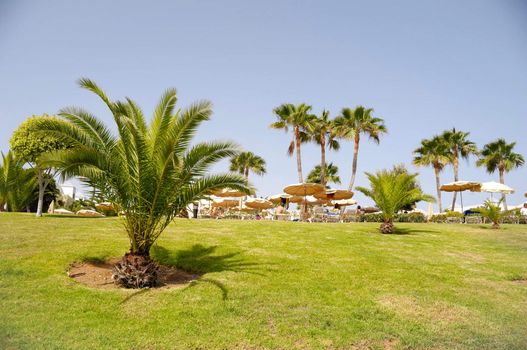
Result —
[{"label": "dark frond shadow cast on grass by the large palm", "polygon": [[[244,272],[264,276],[258,272],[261,264],[246,262],[241,257],[241,252],[232,252],[222,255],[215,255],[217,246],[203,246],[195,244],[189,249],[178,250],[175,253],[168,249],[155,245],[152,247],[151,255],[159,263],[174,266],[186,272],[199,274],[200,276],[211,272]],[[200,277],[185,287],[188,290],[199,283],[209,283],[218,287],[222,293],[222,299],[227,300],[229,291],[223,283],[212,278]]]}]

